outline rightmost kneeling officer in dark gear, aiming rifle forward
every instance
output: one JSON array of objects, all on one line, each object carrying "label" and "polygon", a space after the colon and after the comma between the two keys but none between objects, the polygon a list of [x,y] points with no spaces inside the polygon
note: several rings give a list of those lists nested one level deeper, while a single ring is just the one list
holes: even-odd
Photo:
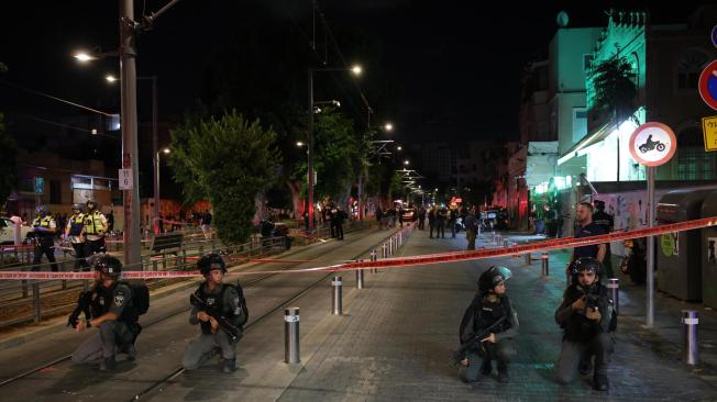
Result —
[{"label": "rightmost kneeling officer in dark gear, aiming rifle forward", "polygon": [[565,289],[563,302],[555,311],[555,322],[564,330],[563,345],[558,359],[558,382],[567,384],[580,371],[588,375],[593,369],[593,387],[607,391],[607,367],[613,349],[613,331],[617,316],[607,287],[600,283],[602,264],[592,257],[571,263],[572,284]]}]

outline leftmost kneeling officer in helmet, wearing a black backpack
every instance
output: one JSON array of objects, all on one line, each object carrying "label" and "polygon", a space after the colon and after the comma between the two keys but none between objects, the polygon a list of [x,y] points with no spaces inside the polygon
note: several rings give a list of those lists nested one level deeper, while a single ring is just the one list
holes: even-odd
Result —
[{"label": "leftmost kneeling officer in helmet, wearing a black backpack", "polygon": [[91,317],[82,321],[70,316],[69,324],[78,332],[90,326],[99,331],[73,353],[73,362],[99,361],[100,371],[108,371],[114,367],[118,351],[126,354],[128,360],[136,358],[134,343],[142,328],[133,306],[132,289],[126,282],[119,281],[122,272],[120,260],[102,255],[93,266],[97,282],[88,298]]}]

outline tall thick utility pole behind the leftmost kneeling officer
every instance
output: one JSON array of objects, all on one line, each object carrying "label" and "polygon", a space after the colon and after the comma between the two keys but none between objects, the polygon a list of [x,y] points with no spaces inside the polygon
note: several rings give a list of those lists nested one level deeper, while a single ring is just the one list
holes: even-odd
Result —
[{"label": "tall thick utility pole behind the leftmost kneeling officer", "polygon": [[142,269],[140,248],[140,172],[136,123],[136,41],[133,0],[120,0],[120,71],[122,168],[131,170],[132,188],[122,191],[124,206],[124,266]]}]

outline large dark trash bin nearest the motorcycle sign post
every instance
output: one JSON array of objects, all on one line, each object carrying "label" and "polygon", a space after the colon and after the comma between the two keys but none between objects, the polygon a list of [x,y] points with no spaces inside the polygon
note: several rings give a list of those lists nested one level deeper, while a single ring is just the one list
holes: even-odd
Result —
[{"label": "large dark trash bin nearest the motorcycle sign post", "polygon": [[[713,190],[674,190],[662,196],[658,224],[699,219],[703,200]],[[655,238],[658,289],[685,301],[702,300],[702,242],[699,231],[665,233]]]}]

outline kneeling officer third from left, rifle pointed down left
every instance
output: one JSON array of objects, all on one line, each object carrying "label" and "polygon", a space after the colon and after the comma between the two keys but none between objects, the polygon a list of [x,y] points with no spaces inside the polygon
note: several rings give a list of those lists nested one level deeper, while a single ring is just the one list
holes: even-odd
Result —
[{"label": "kneeling officer third from left, rifle pointed down left", "polygon": [[[517,355],[514,338],[518,335],[518,314],[506,294],[506,280],[510,276],[508,268],[497,266],[483,272],[478,293],[463,314],[461,344],[475,343],[460,361],[459,377],[465,382],[478,381],[481,375],[489,376],[492,360],[498,361],[498,382],[509,381],[508,362]],[[498,321],[499,324],[487,331]],[[479,335],[482,338],[476,339]]]}]

